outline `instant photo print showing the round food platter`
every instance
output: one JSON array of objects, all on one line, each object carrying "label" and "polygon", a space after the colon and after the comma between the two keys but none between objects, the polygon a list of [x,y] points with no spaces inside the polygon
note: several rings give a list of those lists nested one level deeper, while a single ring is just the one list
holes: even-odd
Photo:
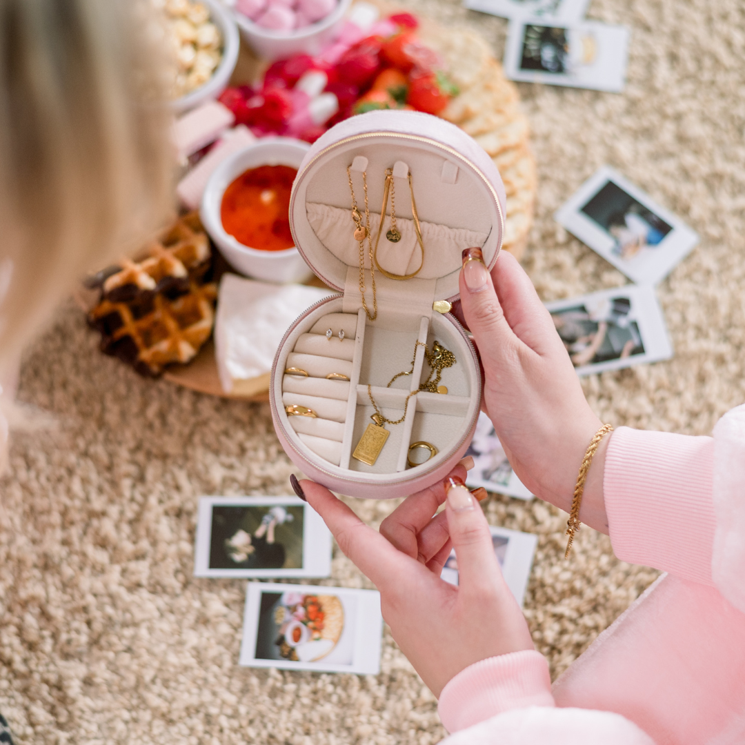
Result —
[{"label": "instant photo print showing the round food platter", "polygon": [[375,590],[249,583],[240,665],[376,675],[382,633]]}]

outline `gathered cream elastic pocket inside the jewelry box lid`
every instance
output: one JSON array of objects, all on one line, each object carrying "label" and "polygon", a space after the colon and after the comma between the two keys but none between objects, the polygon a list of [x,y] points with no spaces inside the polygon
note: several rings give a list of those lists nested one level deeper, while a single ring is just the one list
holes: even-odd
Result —
[{"label": "gathered cream elastic pocket inside the jewelry box lid", "polygon": [[[308,223],[317,238],[337,259],[348,266],[359,265],[359,244],[354,238],[355,223],[352,211],[328,204],[308,202]],[[370,212],[373,227],[373,245],[378,235],[380,212]],[[420,222],[425,247],[424,264],[416,275],[419,279],[440,279],[460,268],[460,254],[465,248],[481,247],[488,234],[466,228],[451,228],[437,223]],[[410,274],[419,267],[422,253],[416,241],[414,222],[410,218],[396,218],[401,240],[391,243],[385,233],[390,228],[390,215],[383,224],[383,235],[378,241],[378,264],[392,274]],[[365,243],[367,248],[367,241]],[[365,267],[370,259],[365,250]]]}]

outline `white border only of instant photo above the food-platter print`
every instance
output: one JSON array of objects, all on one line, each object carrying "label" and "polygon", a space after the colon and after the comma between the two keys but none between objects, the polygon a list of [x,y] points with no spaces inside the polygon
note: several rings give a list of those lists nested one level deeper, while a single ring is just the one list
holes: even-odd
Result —
[{"label": "white border only of instant photo above the food-platter print", "polygon": [[[302,567],[291,569],[213,569],[209,566],[214,507],[302,507]],[[296,496],[286,497],[200,497],[197,512],[197,535],[194,539],[194,577],[227,577],[234,579],[301,579],[330,577],[332,535],[323,518]]]}]

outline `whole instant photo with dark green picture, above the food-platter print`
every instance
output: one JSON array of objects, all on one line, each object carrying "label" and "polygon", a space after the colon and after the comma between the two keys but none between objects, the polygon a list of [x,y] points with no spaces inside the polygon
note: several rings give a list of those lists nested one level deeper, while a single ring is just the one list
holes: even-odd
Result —
[{"label": "whole instant photo with dark green picture, above the food-platter print", "polygon": [[297,497],[201,497],[195,577],[329,577],[332,536]]}]

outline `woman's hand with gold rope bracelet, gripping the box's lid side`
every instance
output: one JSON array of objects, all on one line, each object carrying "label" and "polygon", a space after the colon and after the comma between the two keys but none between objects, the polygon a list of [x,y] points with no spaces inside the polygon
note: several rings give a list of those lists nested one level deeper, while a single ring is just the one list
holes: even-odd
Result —
[{"label": "woman's hand with gold rope bracelet, gripping the box's lid side", "polygon": [[[520,481],[569,511],[577,472],[600,419],[590,409],[551,314],[518,261],[502,251],[491,275],[481,251],[463,252],[460,304],[484,368],[482,407]],[[608,532],[603,463],[609,437],[592,460],[580,519]]]}]

